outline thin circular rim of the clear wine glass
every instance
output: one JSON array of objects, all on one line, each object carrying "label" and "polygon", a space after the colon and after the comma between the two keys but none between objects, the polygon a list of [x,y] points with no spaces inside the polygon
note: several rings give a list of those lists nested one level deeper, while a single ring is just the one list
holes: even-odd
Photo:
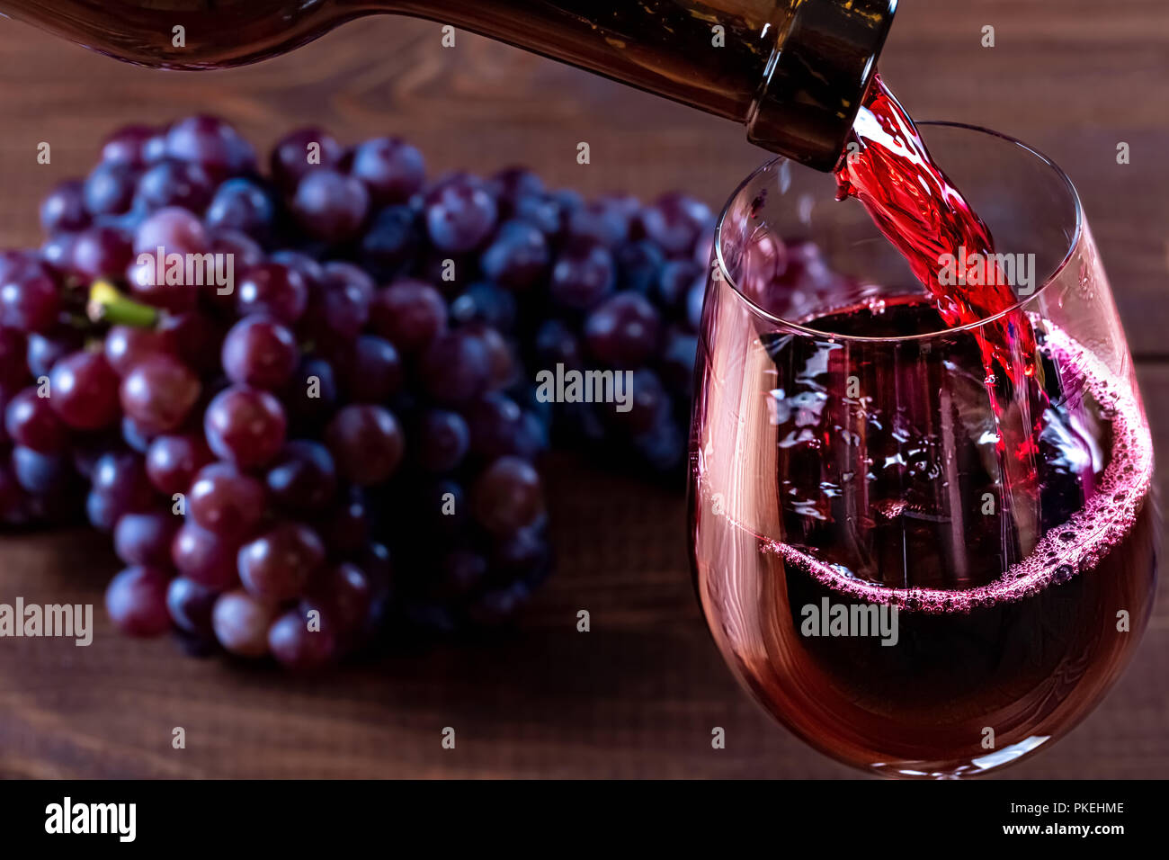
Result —
[{"label": "thin circular rim of the clear wine glass", "polygon": [[[722,280],[734,290],[735,298],[742,301],[749,309],[750,312],[759,316],[761,319],[768,322],[768,324],[775,325],[784,330],[791,330],[797,333],[807,335],[817,338],[828,338],[838,342],[885,342],[885,343],[900,343],[906,340],[928,340],[931,338],[942,338],[952,337],[961,332],[970,332],[981,329],[990,323],[995,323],[1003,317],[1012,315],[1017,311],[1025,310],[1028,307],[1033,305],[1037,302],[1043,301],[1046,289],[1056,281],[1059,280],[1060,274],[1067,267],[1070,261],[1075,254],[1077,247],[1080,245],[1081,235],[1085,227],[1084,221],[1084,209],[1080,204],[1079,193],[1075,191],[1075,186],[1072,180],[1064,172],[1064,170],[1052,161],[1047,156],[1043,154],[1038,150],[1012,138],[1008,135],[1002,135],[997,131],[991,131],[989,129],[983,129],[976,125],[968,125],[964,123],[948,123],[948,122],[921,122],[916,124],[924,133],[928,133],[929,129],[947,130],[950,132],[961,132],[969,135],[984,136],[985,138],[992,139],[999,144],[1007,144],[1014,147],[1018,153],[1025,157],[1033,170],[1045,171],[1049,173],[1052,185],[1059,188],[1061,197],[1064,198],[1064,204],[1066,205],[1066,214],[1068,215],[1070,227],[1064,231],[1064,241],[1058,250],[1054,250],[1049,257],[1053,261],[1052,264],[1044,267],[1044,274],[1038,276],[1037,273],[1037,285],[1035,290],[1024,297],[1017,298],[1010,307],[1004,308],[995,314],[988,315],[974,322],[964,323],[962,325],[955,326],[940,326],[931,331],[922,331],[908,335],[897,335],[897,336],[865,336],[865,335],[853,335],[853,333],[842,333],[836,331],[829,331],[815,328],[815,324],[809,324],[808,317],[800,318],[788,318],[782,315],[772,312],[762,308],[756,301],[754,301],[743,289],[741,284],[736,281],[734,274],[732,274],[728,267],[725,254],[725,234],[726,236],[732,236],[732,231],[735,226],[732,223],[732,219],[736,218],[736,209],[741,208],[738,204],[750,195],[754,198],[758,191],[763,187],[763,183],[767,178],[774,177],[787,167],[790,159],[780,157],[774,158],[766,164],[756,167],[752,173],[740,183],[739,187],[734,190],[727,200],[726,205],[722,207],[722,212],[719,214],[718,222],[714,229],[714,260],[718,263],[718,270]],[[989,140],[988,140],[989,143]],[[772,180],[770,184],[774,184]],[[839,201],[841,206],[844,206],[848,201]],[[796,205],[795,200],[790,201],[791,206]],[[991,225],[994,227],[994,225]],[[732,240],[733,241],[733,240]],[[906,293],[899,293],[898,296],[908,295]],[[925,293],[921,294],[922,298],[927,298]],[[881,296],[883,298],[891,298],[890,296]],[[825,308],[824,312],[831,312],[832,310]]]}]

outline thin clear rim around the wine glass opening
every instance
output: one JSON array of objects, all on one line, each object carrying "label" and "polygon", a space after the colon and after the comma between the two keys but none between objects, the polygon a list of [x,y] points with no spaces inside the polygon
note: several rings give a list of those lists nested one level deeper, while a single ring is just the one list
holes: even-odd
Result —
[{"label": "thin clear rim around the wine glass opening", "polygon": [[788,329],[794,329],[795,331],[798,331],[801,333],[809,335],[811,337],[829,338],[829,339],[832,339],[832,340],[863,340],[863,342],[871,342],[871,343],[901,343],[901,342],[905,342],[905,340],[925,340],[925,339],[929,339],[929,338],[946,337],[946,336],[949,336],[949,335],[956,335],[956,333],[960,333],[960,332],[963,332],[963,331],[973,331],[975,329],[981,329],[981,328],[983,328],[983,326],[985,326],[985,325],[988,325],[990,323],[994,323],[995,321],[1001,319],[1001,318],[1003,318],[1003,317],[1005,317],[1005,316],[1008,316],[1010,314],[1014,314],[1014,312],[1018,311],[1021,308],[1023,308],[1024,305],[1030,304],[1033,301],[1037,301],[1043,295],[1044,290],[1047,289],[1047,287],[1053,281],[1056,281],[1059,277],[1060,273],[1067,267],[1067,263],[1071,261],[1072,255],[1074,254],[1075,248],[1080,243],[1080,239],[1082,236],[1082,232],[1084,232],[1084,207],[1082,207],[1082,204],[1080,202],[1080,194],[1075,190],[1075,185],[1072,183],[1071,178],[1067,176],[1067,173],[1064,172],[1064,168],[1060,167],[1058,164],[1056,164],[1051,158],[1049,158],[1044,153],[1039,152],[1033,146],[1030,146],[1030,145],[1023,143],[1022,140],[1011,137],[1010,135],[1003,135],[1002,132],[995,131],[992,129],[984,129],[984,128],[982,128],[980,125],[970,125],[968,123],[954,123],[954,122],[946,122],[946,121],[938,121],[938,119],[920,122],[920,123],[916,123],[916,125],[918,126],[933,126],[933,128],[949,128],[949,129],[957,129],[957,130],[961,130],[961,131],[973,131],[973,132],[975,132],[977,135],[987,135],[987,136],[990,136],[990,137],[996,137],[996,138],[998,138],[1001,140],[1005,140],[1007,143],[1014,144],[1015,146],[1017,146],[1017,147],[1024,150],[1024,151],[1026,151],[1036,160],[1038,160],[1040,164],[1046,165],[1047,167],[1050,167],[1056,173],[1056,176],[1063,181],[1064,186],[1067,188],[1067,192],[1071,195],[1072,205],[1073,205],[1074,211],[1075,211],[1075,227],[1072,231],[1072,235],[1071,235],[1071,238],[1070,238],[1070,240],[1067,242],[1067,248],[1064,252],[1063,259],[1051,270],[1051,274],[1047,275],[1044,278],[1043,283],[1039,284],[1039,287],[1035,290],[1035,293],[1032,293],[1030,296],[1025,296],[1023,298],[1018,298],[1009,308],[1004,308],[1003,310],[1001,310],[1001,311],[998,311],[996,314],[991,314],[990,316],[982,317],[981,319],[976,319],[973,323],[963,323],[962,325],[955,325],[953,328],[938,329],[936,331],[926,331],[926,332],[919,332],[919,333],[913,333],[913,335],[897,335],[897,336],[876,336],[874,337],[874,336],[871,336],[871,335],[842,335],[842,333],[835,332],[835,331],[823,331],[821,329],[814,329],[814,328],[811,328],[809,325],[804,325],[802,323],[797,323],[797,322],[794,322],[791,319],[786,319],[784,317],[776,316],[775,314],[772,314],[770,311],[763,310],[753,300],[748,298],[743,294],[743,291],[741,289],[739,289],[739,284],[736,284],[734,282],[734,278],[731,277],[731,273],[727,271],[726,261],[722,259],[722,225],[726,221],[727,214],[731,212],[731,207],[733,206],[734,201],[739,199],[739,194],[741,194],[745,188],[747,188],[752,183],[754,183],[766,171],[768,171],[768,170],[770,170],[770,168],[773,168],[773,167],[775,167],[777,165],[781,165],[781,164],[783,164],[786,161],[790,161],[791,160],[791,159],[786,158],[783,156],[777,156],[776,158],[773,158],[769,161],[765,161],[760,166],[755,167],[755,170],[753,170],[750,173],[747,174],[746,179],[743,179],[741,183],[739,183],[739,185],[735,187],[735,190],[733,192],[731,192],[731,197],[727,198],[726,204],[724,204],[722,211],[719,213],[718,221],[715,222],[715,226],[714,226],[714,260],[718,263],[719,273],[722,275],[722,277],[727,282],[727,284],[729,284],[731,289],[734,290],[735,296],[740,301],[745,302],[747,304],[747,307],[752,309],[752,311],[754,311],[759,316],[763,317],[765,319],[769,319],[770,322],[774,322],[774,323],[776,323],[779,325],[782,325],[784,328],[788,328]]}]

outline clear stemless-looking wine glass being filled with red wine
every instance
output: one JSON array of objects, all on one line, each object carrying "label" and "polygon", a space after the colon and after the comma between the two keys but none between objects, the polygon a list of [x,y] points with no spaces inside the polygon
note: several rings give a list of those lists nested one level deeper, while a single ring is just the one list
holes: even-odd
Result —
[{"label": "clear stemless-looking wine glass being filled with red wine", "polygon": [[[775,718],[857,768],[966,777],[1050,744],[1116,680],[1157,511],[1071,181],[995,132],[921,130],[1015,255],[1017,303],[946,328],[831,177],[756,170],[712,255],[690,537],[714,640]],[[988,371],[991,338],[1023,372]]]}]

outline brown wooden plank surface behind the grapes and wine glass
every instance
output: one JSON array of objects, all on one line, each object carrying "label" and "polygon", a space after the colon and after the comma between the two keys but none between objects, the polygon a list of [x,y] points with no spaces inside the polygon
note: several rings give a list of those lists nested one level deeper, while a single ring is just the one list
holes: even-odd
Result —
[{"label": "brown wooden plank surface behind the grapes and wine glass", "polygon": [[[1169,7],[1163,0],[905,2],[883,60],[920,117],[1002,130],[1077,181],[1169,445]],[[981,28],[996,28],[982,48]],[[914,75],[919,69],[920,75]],[[39,241],[35,206],[123,122],[215,111],[267,145],[319,123],[411,138],[434,171],[533,165],[551,183],[719,206],[760,160],[740,130],[468,34],[394,18],[222,73],[115,63],[0,21],[0,245]],[[51,144],[39,165],[39,142]],[[592,164],[577,165],[587,140]],[[1132,163],[1118,165],[1126,142]],[[1161,474],[1163,484],[1164,472]],[[679,493],[558,455],[559,572],[517,632],[319,680],[119,638],[101,608],[117,562],[84,531],[0,542],[0,596],[97,604],[95,642],[0,640],[0,776],[841,777],[734,684],[689,579]],[[1163,487],[1162,487],[1163,489]],[[1169,776],[1169,603],[1107,701],[1014,777]],[[593,632],[575,631],[588,608]],[[171,748],[173,727],[185,750]],[[455,727],[456,750],[440,732]],[[711,749],[712,727],[727,748]]]}]

